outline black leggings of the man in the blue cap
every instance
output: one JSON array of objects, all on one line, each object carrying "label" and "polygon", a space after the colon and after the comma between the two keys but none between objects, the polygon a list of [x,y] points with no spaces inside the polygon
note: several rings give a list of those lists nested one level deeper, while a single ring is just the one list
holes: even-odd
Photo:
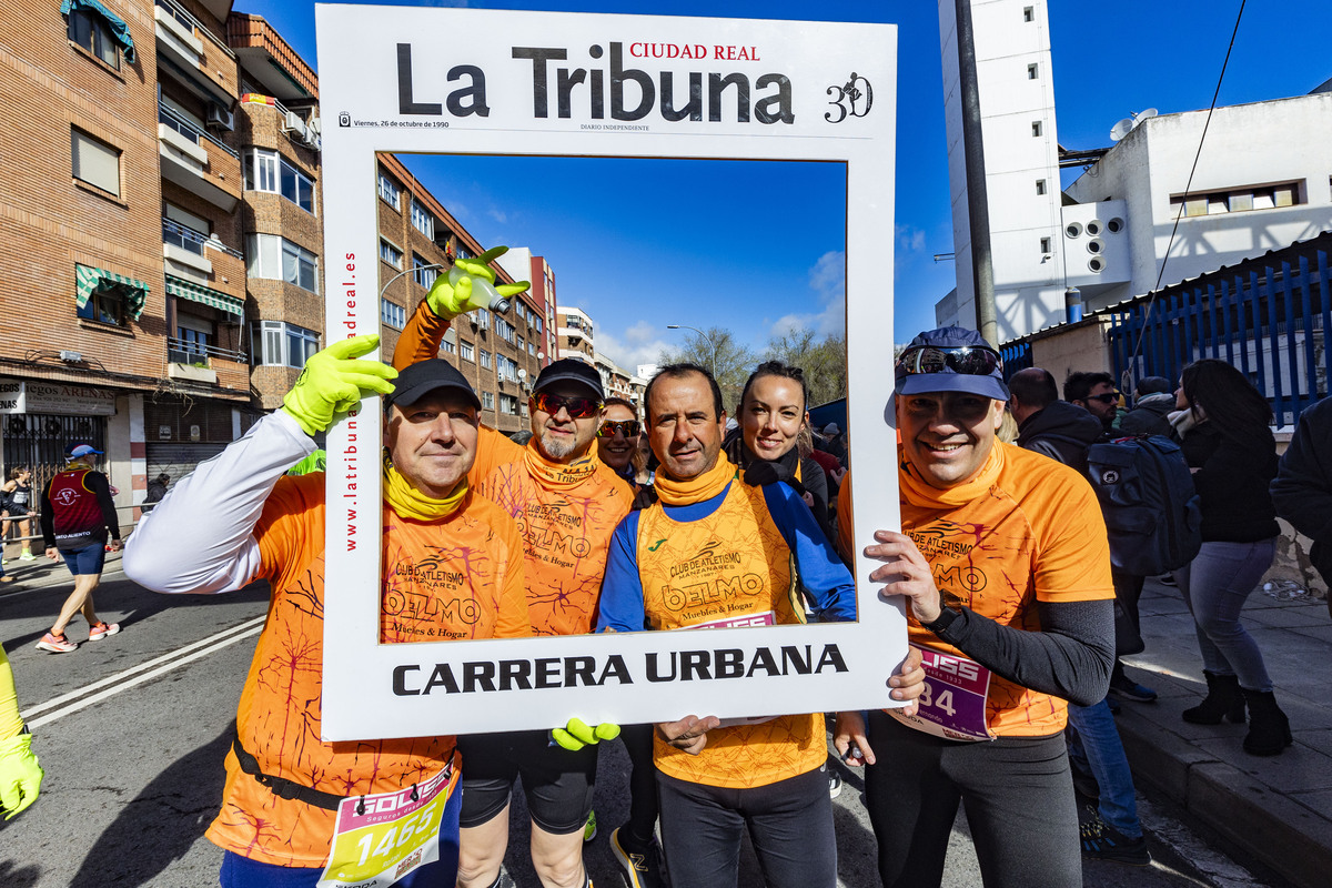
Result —
[{"label": "black leggings of the man in the blue cap", "polygon": [[938,888],[959,800],[986,885],[1079,888],[1078,809],[1064,735],[963,743],[870,712],[864,776],[884,888]]}]

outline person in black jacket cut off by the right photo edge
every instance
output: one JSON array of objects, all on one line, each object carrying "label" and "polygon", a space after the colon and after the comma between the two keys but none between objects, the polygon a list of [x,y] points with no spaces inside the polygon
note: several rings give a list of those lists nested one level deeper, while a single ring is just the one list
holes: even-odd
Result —
[{"label": "person in black jacket cut off by the right photo edge", "polygon": [[1300,414],[1271,490],[1276,514],[1313,541],[1309,560],[1332,584],[1332,398]]}]

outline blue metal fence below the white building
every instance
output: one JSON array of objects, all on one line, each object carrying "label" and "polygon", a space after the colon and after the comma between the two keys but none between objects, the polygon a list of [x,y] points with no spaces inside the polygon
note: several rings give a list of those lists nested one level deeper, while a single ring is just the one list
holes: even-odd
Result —
[{"label": "blue metal fence below the white building", "polygon": [[1220,358],[1267,395],[1277,426],[1293,425],[1328,393],[1329,253],[1332,232],[1324,232],[1098,312],[1111,322],[1115,375],[1126,386],[1148,375],[1177,379],[1189,361]]}]

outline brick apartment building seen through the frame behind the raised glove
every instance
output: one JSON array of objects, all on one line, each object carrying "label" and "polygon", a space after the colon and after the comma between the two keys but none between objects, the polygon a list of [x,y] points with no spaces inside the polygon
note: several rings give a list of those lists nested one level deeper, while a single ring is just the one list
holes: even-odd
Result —
[{"label": "brick apartment building seen through the frame behind the raised glove", "polygon": [[[392,353],[398,334],[434,280],[457,258],[480,256],[484,246],[393,154],[380,154],[380,309],[382,347]],[[522,278],[518,278],[522,280]],[[498,265],[498,281],[514,277]],[[541,371],[546,324],[535,300],[523,293],[507,312],[477,309],[457,318],[440,357],[457,366],[481,398],[481,421],[513,434],[527,425],[527,386]]]}]

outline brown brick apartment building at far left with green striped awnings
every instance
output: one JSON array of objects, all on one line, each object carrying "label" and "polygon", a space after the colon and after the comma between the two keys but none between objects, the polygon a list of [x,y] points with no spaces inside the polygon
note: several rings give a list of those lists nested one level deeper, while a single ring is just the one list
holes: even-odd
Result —
[{"label": "brown brick apartment building at far left with green striped awnings", "polygon": [[0,12],[0,439],[37,479],[107,451],[123,517],[148,443],[198,457],[249,410],[229,3]]}]

